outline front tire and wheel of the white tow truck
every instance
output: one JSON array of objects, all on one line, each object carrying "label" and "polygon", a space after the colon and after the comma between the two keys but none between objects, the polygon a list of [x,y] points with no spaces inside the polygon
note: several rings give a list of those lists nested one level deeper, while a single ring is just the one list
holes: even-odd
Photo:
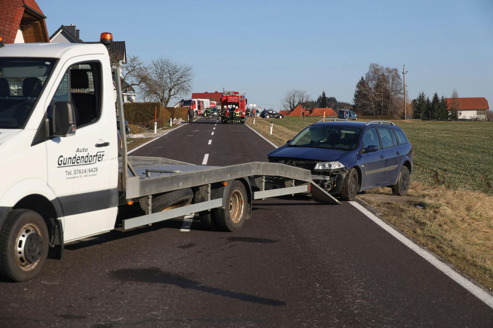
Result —
[{"label": "front tire and wheel of the white tow truck", "polygon": [[46,223],[35,211],[14,209],[0,230],[0,275],[12,281],[33,279],[48,258]]}]

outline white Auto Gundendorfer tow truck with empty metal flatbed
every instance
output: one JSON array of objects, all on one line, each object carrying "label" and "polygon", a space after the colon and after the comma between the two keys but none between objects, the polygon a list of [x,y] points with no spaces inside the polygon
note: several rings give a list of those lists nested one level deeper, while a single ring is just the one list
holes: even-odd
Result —
[{"label": "white Auto Gundendorfer tow truck with empty metal flatbed", "polygon": [[[103,44],[0,39],[1,276],[30,280],[47,258],[62,259],[64,244],[113,229],[197,213],[211,229],[234,231],[250,218],[253,199],[311,193],[338,203],[309,170],[290,165],[127,156],[111,40],[110,33]],[[136,207],[141,213],[118,215]]]}]

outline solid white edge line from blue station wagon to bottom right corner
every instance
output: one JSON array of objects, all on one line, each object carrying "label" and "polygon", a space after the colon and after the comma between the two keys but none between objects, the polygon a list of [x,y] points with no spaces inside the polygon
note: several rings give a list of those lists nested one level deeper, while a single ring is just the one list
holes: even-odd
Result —
[{"label": "solid white edge line from blue station wagon to bottom right corner", "polygon": [[392,236],[394,236],[397,240],[399,240],[401,243],[409,247],[411,250],[413,250],[416,254],[421,256],[424,260],[428,261],[431,265],[436,267],[438,270],[442,271],[445,275],[447,275],[449,278],[454,280],[456,283],[458,283],[460,286],[465,288],[469,293],[472,295],[476,296],[479,298],[481,301],[483,301],[486,305],[491,307],[493,309],[493,295],[489,294],[485,290],[483,290],[481,287],[477,286],[474,284],[472,281],[469,279],[465,278],[462,276],[460,273],[458,273],[456,270],[454,270],[452,267],[447,265],[446,263],[440,261],[433,255],[432,253],[428,252],[427,250],[423,249],[421,246],[413,242],[411,239],[400,233],[399,231],[395,230],[392,228],[390,225],[388,225],[386,222],[384,222],[382,219],[380,219],[378,216],[364,208],[361,204],[359,204],[356,201],[349,201],[349,203],[357,208],[361,213],[366,215],[370,220],[375,222],[377,225],[379,225],[382,229],[386,230],[388,233],[390,233]]}]

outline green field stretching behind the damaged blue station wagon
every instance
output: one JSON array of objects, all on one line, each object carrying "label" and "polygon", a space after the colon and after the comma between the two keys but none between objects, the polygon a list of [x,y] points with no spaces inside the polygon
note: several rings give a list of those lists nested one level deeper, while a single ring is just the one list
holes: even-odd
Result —
[{"label": "green field stretching behind the damaged blue station wagon", "polygon": [[[283,145],[320,118],[256,118],[249,126]],[[274,123],[269,135],[270,122]],[[414,181],[451,189],[465,188],[493,195],[493,123],[396,122],[414,149]]]}]

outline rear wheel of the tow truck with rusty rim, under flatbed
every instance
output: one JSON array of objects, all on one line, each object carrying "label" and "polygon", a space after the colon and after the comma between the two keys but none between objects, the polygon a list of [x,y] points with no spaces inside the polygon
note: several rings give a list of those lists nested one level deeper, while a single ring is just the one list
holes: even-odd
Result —
[{"label": "rear wheel of the tow truck with rusty rim, under flatbed", "polygon": [[245,224],[248,197],[243,183],[235,180],[226,195],[226,208],[214,208],[213,219],[221,231],[240,230]]}]

